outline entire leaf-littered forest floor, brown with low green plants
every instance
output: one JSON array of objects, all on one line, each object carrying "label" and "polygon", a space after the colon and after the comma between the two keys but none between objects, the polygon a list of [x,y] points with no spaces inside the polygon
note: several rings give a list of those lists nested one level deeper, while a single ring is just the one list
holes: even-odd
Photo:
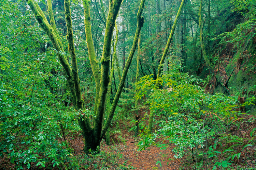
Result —
[{"label": "entire leaf-littered forest floor, brown with low green plants", "polygon": [[[229,132],[226,133],[241,136],[243,138],[249,138],[252,129],[256,128],[255,121],[248,121],[252,118],[255,119],[256,116],[245,116],[243,121],[239,123],[239,127],[237,125],[233,125],[230,127]],[[175,159],[173,157],[174,153],[171,151],[171,148],[167,148],[166,150],[160,150],[160,148],[157,146],[151,146],[143,151],[137,151],[137,144],[140,138],[135,137],[133,131],[129,131],[129,129],[131,129],[133,126],[133,124],[129,123],[131,119],[132,118],[124,118],[123,120],[118,120],[118,124],[113,125],[111,129],[111,145],[106,145],[105,140],[102,140],[100,146],[101,154],[99,154],[99,156],[89,155],[88,157],[85,155],[85,153],[83,152],[84,142],[81,132],[68,133],[66,135],[66,138],[70,143],[69,147],[73,150],[72,159],[74,163],[77,163],[77,165],[79,165],[80,169],[82,170],[115,170],[118,168],[120,169],[120,167],[122,167],[123,169],[136,170],[178,170],[182,167],[184,169],[185,165],[188,166],[185,169],[193,169],[193,166],[191,166],[193,162],[190,159]],[[59,140],[63,141],[63,139]],[[162,139],[158,138],[156,140]],[[223,146],[217,146],[217,149],[219,151],[223,151]],[[235,158],[232,161],[233,164],[230,166],[230,168],[239,170],[255,170],[255,154],[255,146],[248,147],[246,150],[241,152],[241,157],[239,160]],[[218,159],[222,160],[224,159],[224,157],[219,157]],[[161,166],[159,163],[156,164],[157,162],[160,162]],[[32,163],[30,169],[39,169],[39,167],[35,166],[35,164],[36,163]],[[4,157],[0,158],[0,170],[2,169],[11,170],[16,168],[15,164],[10,163],[9,158]],[[24,169],[27,170],[26,165],[24,165]],[[46,164],[46,167],[41,169],[57,170],[57,168],[53,168],[51,164]],[[62,169],[66,168],[63,167]],[[212,169],[212,167],[209,167],[209,169]]]}]

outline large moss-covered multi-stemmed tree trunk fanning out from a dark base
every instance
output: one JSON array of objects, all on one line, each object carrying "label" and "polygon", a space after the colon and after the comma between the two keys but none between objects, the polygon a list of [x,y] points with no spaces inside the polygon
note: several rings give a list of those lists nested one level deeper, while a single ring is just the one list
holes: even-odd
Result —
[{"label": "large moss-covered multi-stemmed tree trunk fanning out from a dark base", "polygon": [[[71,92],[71,98],[75,109],[81,109],[81,115],[79,116],[79,124],[83,131],[84,135],[84,152],[86,154],[89,153],[90,150],[97,151],[100,146],[100,141],[102,140],[103,135],[106,133],[109,124],[113,118],[115,108],[117,102],[119,100],[120,94],[124,87],[124,80],[126,79],[128,68],[131,64],[131,60],[135,49],[138,44],[138,37],[140,34],[141,27],[143,26],[144,19],[141,17],[142,11],[144,8],[145,0],[141,0],[140,8],[137,14],[137,30],[134,36],[133,46],[126,62],[123,75],[115,95],[115,99],[113,101],[110,113],[108,115],[108,119],[104,123],[104,112],[105,112],[105,103],[106,103],[106,95],[108,92],[108,86],[110,82],[109,70],[110,70],[110,51],[111,51],[111,37],[113,35],[113,30],[115,26],[116,17],[122,4],[123,0],[110,0],[109,13],[106,21],[106,30],[105,30],[105,38],[103,45],[103,55],[101,60],[101,73],[98,65],[98,61],[95,57],[95,51],[93,47],[93,39],[91,36],[91,26],[90,26],[90,11],[89,11],[89,0],[83,0],[84,5],[84,22],[85,22],[85,31],[86,31],[86,41],[87,48],[89,52],[89,59],[91,68],[93,70],[95,83],[96,83],[96,98],[95,98],[95,114],[96,118],[94,121],[94,127],[91,127],[90,121],[88,117],[85,117],[83,114],[83,99],[81,97],[81,88],[80,81],[78,78],[78,70],[77,70],[77,62],[75,56],[74,49],[74,40],[73,40],[73,31],[72,31],[72,21],[71,21],[71,11],[70,11],[70,0],[65,0],[65,18],[67,22],[67,40],[69,44],[69,52],[71,55],[72,69],[67,61],[67,57],[63,55],[63,48],[61,44],[61,39],[58,35],[54,18],[51,10],[51,1],[48,1],[48,13],[51,20],[51,25],[48,23],[45,15],[43,14],[41,8],[34,0],[26,0],[30,9],[34,13],[35,18],[38,20],[38,23],[43,28],[49,39],[52,41],[53,47],[58,51],[58,57],[61,65],[65,70],[65,74],[67,75],[68,87]],[[103,129],[102,129],[103,127]]]}]

